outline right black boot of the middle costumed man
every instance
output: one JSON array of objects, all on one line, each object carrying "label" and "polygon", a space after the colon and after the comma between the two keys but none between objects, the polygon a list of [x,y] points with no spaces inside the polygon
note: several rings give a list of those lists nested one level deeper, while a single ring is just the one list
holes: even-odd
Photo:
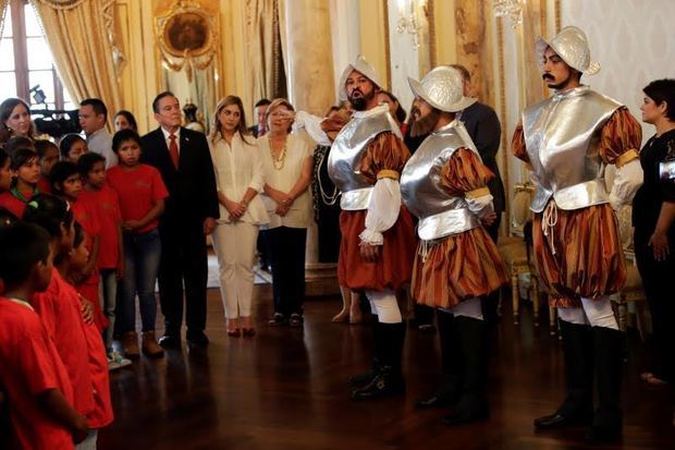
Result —
[{"label": "right black boot of the middle costumed man", "polygon": [[445,425],[458,425],[488,418],[486,385],[488,379],[488,329],[484,320],[458,316],[455,325],[461,336],[464,365],[462,397],[443,418]]}]

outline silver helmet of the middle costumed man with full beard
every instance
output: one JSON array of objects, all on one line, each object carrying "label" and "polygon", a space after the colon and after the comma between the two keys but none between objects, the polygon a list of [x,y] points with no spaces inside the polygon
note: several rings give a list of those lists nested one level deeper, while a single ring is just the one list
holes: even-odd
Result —
[{"label": "silver helmet of the middle costumed man with full beard", "polygon": [[458,112],[474,105],[477,99],[465,97],[462,73],[454,68],[440,65],[421,82],[408,76],[408,84],[415,97],[445,112]]}]

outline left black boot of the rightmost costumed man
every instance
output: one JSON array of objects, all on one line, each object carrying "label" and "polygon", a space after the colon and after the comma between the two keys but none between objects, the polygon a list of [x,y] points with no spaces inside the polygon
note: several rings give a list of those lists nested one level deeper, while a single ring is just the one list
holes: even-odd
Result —
[{"label": "left black boot of the rightmost costumed man", "polygon": [[567,398],[557,411],[535,419],[535,428],[588,425],[593,417],[593,335],[587,325],[561,320]]}]

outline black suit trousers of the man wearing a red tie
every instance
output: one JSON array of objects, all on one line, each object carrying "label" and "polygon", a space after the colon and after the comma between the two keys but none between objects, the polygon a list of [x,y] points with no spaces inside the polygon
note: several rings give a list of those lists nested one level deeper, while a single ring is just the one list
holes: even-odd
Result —
[{"label": "black suit trousers of the man wearing a red tie", "polygon": [[159,227],[159,235],[162,241],[159,295],[165,332],[180,336],[184,309],[183,288],[187,331],[204,331],[208,264],[202,224],[164,222]]}]

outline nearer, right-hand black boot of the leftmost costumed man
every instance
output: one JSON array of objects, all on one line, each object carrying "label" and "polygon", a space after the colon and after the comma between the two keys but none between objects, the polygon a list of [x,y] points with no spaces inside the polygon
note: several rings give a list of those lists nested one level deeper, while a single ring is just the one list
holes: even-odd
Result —
[{"label": "nearer, right-hand black boot of the leftmost costumed man", "polygon": [[380,324],[382,354],[379,373],[368,386],[352,391],[353,400],[379,399],[405,392],[405,381],[401,372],[405,328],[405,323]]}]

